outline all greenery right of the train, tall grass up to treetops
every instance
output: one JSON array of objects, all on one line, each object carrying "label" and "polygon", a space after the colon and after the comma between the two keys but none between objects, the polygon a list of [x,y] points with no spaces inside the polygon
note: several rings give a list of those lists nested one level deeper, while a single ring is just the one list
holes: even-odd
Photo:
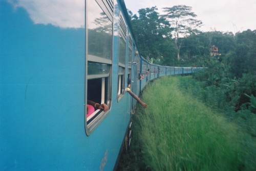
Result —
[{"label": "all greenery right of the train, tall grass up to treetops", "polygon": [[[164,15],[157,10],[130,13],[140,55],[160,65],[206,68],[144,90],[149,107],[132,118],[122,168],[255,170],[256,30],[200,32],[190,7],[165,8]],[[214,56],[211,46],[218,47]]]}]

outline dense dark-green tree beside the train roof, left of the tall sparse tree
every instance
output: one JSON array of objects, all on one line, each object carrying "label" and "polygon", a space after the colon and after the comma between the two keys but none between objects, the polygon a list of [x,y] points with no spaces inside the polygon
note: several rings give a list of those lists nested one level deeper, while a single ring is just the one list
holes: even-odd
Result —
[{"label": "dense dark-green tree beside the train roof, left of the tall sparse tree", "polygon": [[168,58],[169,48],[164,47],[169,42],[165,41],[170,32],[169,22],[159,16],[156,7],[140,9],[138,13],[139,17],[136,14],[132,16],[132,25],[140,54],[148,60],[153,58],[159,61]]}]

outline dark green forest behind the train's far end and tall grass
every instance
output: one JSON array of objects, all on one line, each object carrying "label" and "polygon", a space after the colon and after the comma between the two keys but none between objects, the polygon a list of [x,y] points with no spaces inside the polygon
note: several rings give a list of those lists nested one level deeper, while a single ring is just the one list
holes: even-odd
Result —
[{"label": "dark green forest behind the train's far end and tall grass", "polygon": [[[157,7],[140,9],[139,16],[128,12],[142,57],[166,66],[206,67],[194,76],[204,88],[221,91],[235,112],[256,113],[256,30],[202,32],[203,23],[185,5],[166,7],[163,15]],[[216,55],[211,46],[218,47]]]}]

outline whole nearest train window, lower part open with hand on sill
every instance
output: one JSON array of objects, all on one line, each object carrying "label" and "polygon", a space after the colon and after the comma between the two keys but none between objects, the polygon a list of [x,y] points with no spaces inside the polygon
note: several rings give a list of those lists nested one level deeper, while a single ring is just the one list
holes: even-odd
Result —
[{"label": "whole nearest train window, lower part open with hand on sill", "polygon": [[[86,1],[86,86],[85,103],[93,101],[111,107],[113,53],[113,0]],[[90,133],[109,113],[85,105],[86,133]]]}]

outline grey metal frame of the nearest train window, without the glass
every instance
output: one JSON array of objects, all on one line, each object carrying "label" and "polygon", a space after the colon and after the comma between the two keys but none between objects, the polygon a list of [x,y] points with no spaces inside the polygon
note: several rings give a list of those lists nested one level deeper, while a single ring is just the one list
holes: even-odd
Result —
[{"label": "grey metal frame of the nearest train window, without the glass", "polygon": [[[94,1],[94,2],[92,2]],[[113,22],[114,22],[114,2],[113,0],[91,0],[86,1],[86,26],[88,26],[89,8],[88,3],[97,3],[99,9],[109,18],[111,21],[111,56],[110,59],[102,58],[99,56],[94,56],[88,54],[88,27],[86,27],[86,70],[85,70],[85,85],[84,85],[84,127],[87,136],[89,136],[101,123],[101,121],[110,113],[111,111],[111,87],[112,87],[112,66],[113,66]],[[100,11],[100,10],[99,10]],[[108,74],[92,74],[88,75],[88,66],[90,62],[96,62],[98,64],[106,64],[109,67]],[[88,100],[88,80],[100,79],[101,78],[101,104],[106,103],[109,106],[108,111],[95,110],[93,112],[94,116],[89,116],[87,118],[87,100]],[[103,96],[103,97],[102,97]],[[99,102],[96,102],[99,103]],[[93,118],[92,120],[90,120]],[[90,122],[88,123],[88,120]]]}]

